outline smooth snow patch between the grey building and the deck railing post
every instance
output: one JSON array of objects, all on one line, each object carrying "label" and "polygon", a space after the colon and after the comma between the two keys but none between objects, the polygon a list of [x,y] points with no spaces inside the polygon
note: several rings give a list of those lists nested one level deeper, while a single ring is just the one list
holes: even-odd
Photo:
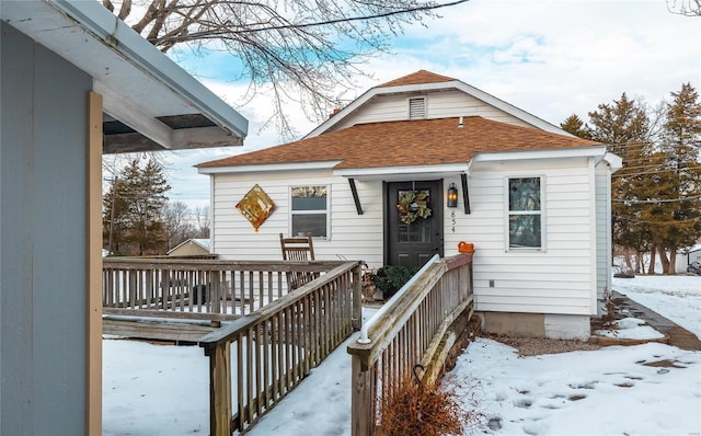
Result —
[{"label": "smooth snow patch between the grey building and the deck railing post", "polygon": [[209,434],[209,358],[198,346],[103,341],[102,434]]}]

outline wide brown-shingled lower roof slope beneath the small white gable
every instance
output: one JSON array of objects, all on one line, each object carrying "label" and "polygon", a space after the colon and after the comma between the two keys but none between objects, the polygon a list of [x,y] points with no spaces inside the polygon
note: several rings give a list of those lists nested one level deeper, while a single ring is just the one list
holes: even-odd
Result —
[{"label": "wide brown-shingled lower roof slope beneath the small white gable", "polygon": [[467,163],[476,153],[572,149],[599,142],[479,116],[358,124],[246,154],[200,163],[233,165],[330,162],[340,169]]}]

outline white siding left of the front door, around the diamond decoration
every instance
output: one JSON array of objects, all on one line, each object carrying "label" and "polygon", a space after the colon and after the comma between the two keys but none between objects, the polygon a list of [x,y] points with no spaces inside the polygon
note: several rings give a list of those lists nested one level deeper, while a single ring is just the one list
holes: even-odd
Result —
[{"label": "white siding left of the front door, around the diamond decoration", "polygon": [[[255,184],[275,203],[275,210],[255,232],[235,208]],[[314,239],[318,260],[360,260],[382,265],[382,183],[356,181],[364,215],[358,215],[345,177],[330,171],[262,174],[217,174],[212,195],[212,252],[230,260],[280,260],[279,233],[289,234],[289,190],[292,185],[330,185],[329,239]]]}]

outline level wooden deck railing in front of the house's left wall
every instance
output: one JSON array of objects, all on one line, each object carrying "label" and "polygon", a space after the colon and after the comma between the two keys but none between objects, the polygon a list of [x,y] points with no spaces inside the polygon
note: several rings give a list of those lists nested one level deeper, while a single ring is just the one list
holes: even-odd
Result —
[{"label": "level wooden deck railing in front of the house's left wall", "polygon": [[[103,331],[196,341],[222,321],[287,295],[286,274],[325,274],[338,264],[107,257],[103,261]],[[161,322],[134,322],[156,318]]]}]

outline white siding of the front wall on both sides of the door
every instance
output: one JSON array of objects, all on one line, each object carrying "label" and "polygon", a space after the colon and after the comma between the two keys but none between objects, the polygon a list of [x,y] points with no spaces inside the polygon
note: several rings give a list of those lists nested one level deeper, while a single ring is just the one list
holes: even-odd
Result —
[{"label": "white siding of the front wall on both sides of the door", "polygon": [[[505,222],[505,183],[508,177],[544,180],[544,250],[509,251]],[[329,184],[330,238],[315,239],[319,260],[360,260],[382,265],[382,183],[356,181],[364,215],[358,216],[348,182],[330,171],[269,174],[218,174],[212,195],[212,252],[222,259],[279,260],[279,233],[289,232],[289,188]],[[596,313],[593,229],[600,228],[593,205],[593,168],[587,159],[475,163],[468,179],[472,213],[445,208],[445,255],[457,253],[459,241],[472,242],[474,295],[478,311]],[[598,180],[598,179],[597,179]],[[258,232],[235,209],[255,184],[271,196],[276,209]],[[459,177],[444,180],[461,186]],[[600,206],[600,203],[596,203]],[[445,205],[444,205],[445,207]],[[599,207],[600,208],[600,207]],[[490,287],[494,280],[494,287]]]}]

